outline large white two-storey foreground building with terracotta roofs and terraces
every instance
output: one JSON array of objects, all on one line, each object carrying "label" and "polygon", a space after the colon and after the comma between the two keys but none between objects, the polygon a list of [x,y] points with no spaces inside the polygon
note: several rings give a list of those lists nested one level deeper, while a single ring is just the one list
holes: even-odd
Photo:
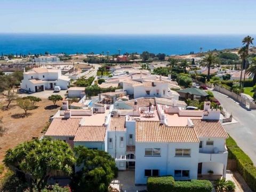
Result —
[{"label": "large white two-storey foreground building with terracotta roofs and terraces", "polygon": [[[161,90],[158,96],[162,97],[166,88],[155,83],[153,89]],[[205,102],[204,110],[190,111],[173,99],[144,96],[119,108],[98,104],[69,109],[63,101],[63,110],[52,117],[45,136],[64,140],[71,147],[107,151],[119,170],[134,170],[138,185],[158,175],[190,180],[206,177],[211,170],[214,177],[226,176],[228,134],[221,125],[220,110],[210,109]]]}]

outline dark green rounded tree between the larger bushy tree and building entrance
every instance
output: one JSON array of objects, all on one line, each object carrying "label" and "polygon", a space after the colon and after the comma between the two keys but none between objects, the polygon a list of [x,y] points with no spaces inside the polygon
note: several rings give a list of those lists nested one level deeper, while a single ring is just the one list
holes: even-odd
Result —
[{"label": "dark green rounded tree between the larger bushy tree and building entrance", "polygon": [[115,159],[102,150],[74,148],[77,166],[83,166],[74,177],[74,189],[85,192],[107,192],[117,171]]}]

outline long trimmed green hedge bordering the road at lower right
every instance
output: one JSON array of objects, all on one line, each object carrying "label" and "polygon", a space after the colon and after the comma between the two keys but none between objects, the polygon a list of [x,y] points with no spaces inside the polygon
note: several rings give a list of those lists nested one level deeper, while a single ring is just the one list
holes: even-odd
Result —
[{"label": "long trimmed green hedge bordering the road at lower right", "polygon": [[256,167],[253,166],[251,158],[239,148],[233,138],[229,137],[226,141],[228,148],[228,158],[235,159],[237,170],[244,178],[247,185],[256,191]]}]

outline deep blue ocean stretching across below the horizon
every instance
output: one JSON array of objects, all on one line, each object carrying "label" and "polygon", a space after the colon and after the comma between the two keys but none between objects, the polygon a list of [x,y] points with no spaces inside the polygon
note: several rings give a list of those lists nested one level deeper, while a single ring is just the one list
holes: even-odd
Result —
[{"label": "deep blue ocean stretching across below the horizon", "polygon": [[[0,34],[0,53],[102,53],[148,51],[187,54],[190,51],[222,50],[242,46],[246,35],[85,35],[85,34]],[[254,36],[255,37],[255,36]]]}]

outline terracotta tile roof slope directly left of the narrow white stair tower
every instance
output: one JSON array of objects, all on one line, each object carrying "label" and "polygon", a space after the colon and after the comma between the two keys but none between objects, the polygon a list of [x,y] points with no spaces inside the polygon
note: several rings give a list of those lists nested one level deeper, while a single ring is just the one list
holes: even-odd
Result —
[{"label": "terracotta tile roof slope directly left of the narrow white stair tower", "polygon": [[80,126],[76,132],[75,142],[103,142],[106,126]]}]

